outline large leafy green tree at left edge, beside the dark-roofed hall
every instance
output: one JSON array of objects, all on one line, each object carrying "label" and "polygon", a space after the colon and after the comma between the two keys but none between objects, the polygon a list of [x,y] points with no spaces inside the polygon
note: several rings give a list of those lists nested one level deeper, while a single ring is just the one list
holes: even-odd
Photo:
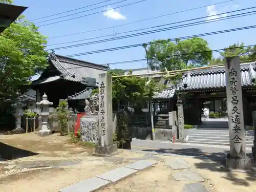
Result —
[{"label": "large leafy green tree at left edge, beside the dark-roofed hall", "polygon": [[23,15],[0,34],[0,103],[15,97],[18,89],[30,84],[31,76],[47,67],[46,44],[46,37]]}]

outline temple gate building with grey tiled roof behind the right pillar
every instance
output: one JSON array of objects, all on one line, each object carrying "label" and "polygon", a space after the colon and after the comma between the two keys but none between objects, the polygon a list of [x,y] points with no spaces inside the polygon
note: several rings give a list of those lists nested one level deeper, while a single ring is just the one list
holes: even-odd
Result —
[{"label": "temple gate building with grey tiled roof behind the right pillar", "polygon": [[[255,62],[241,63],[243,108],[245,125],[252,125],[252,112],[256,111]],[[180,80],[178,90],[167,83],[167,88],[154,96],[155,103],[161,103],[161,114],[174,110],[177,94],[183,100],[184,123],[199,125],[202,109],[210,112],[227,112],[226,75],[224,66],[186,72]]]}]

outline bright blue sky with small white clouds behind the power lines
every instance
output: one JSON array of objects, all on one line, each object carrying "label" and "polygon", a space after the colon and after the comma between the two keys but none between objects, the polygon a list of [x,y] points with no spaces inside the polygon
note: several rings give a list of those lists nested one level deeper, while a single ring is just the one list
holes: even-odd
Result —
[{"label": "bright blue sky with small white clouds behind the power lines", "polygon": [[[44,0],[44,1],[16,0],[14,3],[15,5],[27,6],[28,9],[24,12],[24,14],[28,20],[33,20],[39,17],[44,17],[44,16],[56,14],[59,12],[68,11],[71,9],[87,6],[87,5],[102,2],[102,1],[103,0],[97,0],[97,1],[76,0],[74,2],[68,1],[68,0],[54,0],[54,1],[52,0]],[[111,2],[106,2],[104,4],[94,6],[94,7],[99,7],[99,6],[105,5],[104,8],[99,8],[93,11],[80,13],[80,14],[62,18],[62,19],[67,19],[75,16],[103,11],[110,8],[122,6],[125,4],[137,2],[139,0],[129,0],[123,3],[112,5],[111,7],[107,7],[108,4],[115,3],[118,1],[120,0],[113,0]],[[130,5],[130,6],[122,7],[119,9],[114,9],[114,10],[112,9],[102,13],[69,20],[67,22],[58,23],[55,25],[42,26],[39,28],[39,30],[42,34],[50,38],[48,39],[48,45],[58,44],[61,42],[92,38],[92,37],[97,37],[102,35],[111,35],[113,34],[113,29],[106,29],[106,30],[95,31],[90,33],[82,33],[79,35],[66,36],[61,38],[51,38],[51,37],[56,37],[56,36],[66,35],[71,33],[79,33],[83,31],[89,31],[89,30],[106,28],[106,27],[112,27],[116,25],[122,25],[125,23],[134,22],[136,20],[169,14],[172,12],[206,6],[210,4],[216,4],[223,1],[224,0],[207,0],[207,1],[205,0],[194,0],[194,1],[146,0],[142,3],[138,3],[135,5]],[[232,11],[236,9],[248,8],[255,5],[256,5],[255,0],[243,0],[243,1],[234,0],[232,2],[228,2],[225,4],[220,4],[220,5],[201,8],[201,9],[188,11],[184,13],[164,16],[156,19],[146,20],[145,22],[135,23],[131,25],[115,27],[114,31],[117,33],[117,37],[118,37],[118,36],[121,36],[121,35],[118,35],[118,33],[124,32],[124,31],[136,30],[136,29],[152,27],[156,25],[164,25],[167,23],[178,22],[180,20],[186,20],[186,19],[191,19],[196,17],[210,16],[210,15]],[[85,8],[78,11],[83,11],[91,8],[93,7]],[[75,13],[75,11],[67,14],[71,14],[71,13]],[[58,16],[62,16],[62,15],[58,15]],[[35,23],[40,22],[42,20],[46,20],[46,19],[48,20],[49,18],[36,20]],[[58,19],[58,20],[62,20],[62,19]],[[58,20],[53,20],[52,22],[55,22]],[[82,52],[108,49],[112,47],[120,47],[120,46],[139,44],[139,43],[142,44],[144,42],[149,42],[153,39],[176,38],[176,37],[182,37],[187,35],[195,35],[200,33],[207,33],[207,32],[237,28],[237,27],[245,27],[245,26],[255,25],[253,20],[254,21],[256,20],[256,15],[250,15],[250,16],[241,17],[241,18],[233,18],[233,19],[223,20],[223,21],[214,22],[214,23],[207,23],[207,24],[202,24],[202,25],[193,26],[193,27],[169,30],[165,32],[147,34],[143,36],[120,39],[120,40],[115,40],[110,42],[103,42],[100,44],[58,50],[56,51],[56,53],[66,56],[66,55],[72,55],[72,54],[77,54]],[[40,24],[38,23],[36,25],[39,26],[39,25],[48,24],[48,23],[51,23],[51,22],[40,23]],[[256,29],[249,29],[249,30],[243,30],[243,31],[237,31],[237,32],[211,35],[211,36],[205,37],[205,39],[208,41],[209,47],[211,49],[221,49],[235,42],[244,42],[245,45],[253,45],[253,44],[256,44],[255,30]],[[100,39],[94,39],[94,40],[100,40]],[[87,42],[87,41],[82,41],[82,42]],[[73,45],[73,44],[50,46],[49,48],[69,46],[69,45]],[[117,50],[112,52],[84,55],[84,56],[79,56],[75,58],[103,64],[103,63],[112,63],[112,62],[119,62],[119,61],[126,61],[126,60],[143,59],[145,58],[145,51],[142,47],[137,47],[137,48],[131,48],[131,49]],[[121,68],[121,69],[136,69],[136,68],[146,67],[146,62],[142,61],[142,62],[125,63],[125,64],[119,64],[119,65],[111,65],[111,67]]]}]

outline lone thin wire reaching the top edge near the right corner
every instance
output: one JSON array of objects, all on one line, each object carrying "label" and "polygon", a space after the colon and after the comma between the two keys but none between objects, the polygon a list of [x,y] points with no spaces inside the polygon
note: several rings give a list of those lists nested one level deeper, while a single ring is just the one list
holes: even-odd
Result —
[{"label": "lone thin wire reaching the top edge near the right corner", "polygon": [[220,2],[220,3],[206,5],[206,6],[201,6],[201,7],[196,7],[196,8],[192,8],[192,9],[186,9],[186,10],[182,10],[182,11],[178,11],[178,12],[173,12],[173,13],[169,13],[169,14],[164,14],[164,15],[159,15],[159,16],[155,16],[155,17],[151,17],[151,18],[145,18],[145,19],[142,19],[142,20],[136,20],[135,22],[121,24],[121,25],[116,25],[116,26],[112,26],[112,27],[106,27],[106,28],[94,29],[94,30],[90,30],[90,31],[83,31],[83,32],[79,32],[79,33],[71,33],[71,34],[67,34],[67,35],[59,35],[59,36],[55,36],[55,37],[49,37],[49,39],[59,38],[59,37],[66,37],[66,36],[71,36],[71,35],[79,35],[79,34],[83,34],[83,33],[101,31],[101,30],[105,30],[105,29],[112,29],[112,28],[115,28],[115,27],[121,27],[121,26],[125,26],[125,25],[135,24],[135,23],[139,23],[139,22],[144,22],[146,20],[151,20],[151,19],[155,19],[155,18],[160,18],[160,17],[174,15],[174,14],[188,12],[188,11],[193,11],[193,10],[205,8],[205,7],[208,7],[208,6],[220,5],[220,4],[224,4],[224,3],[228,3],[228,2],[232,2],[232,1],[234,1],[234,0],[224,1],[224,2]]}]

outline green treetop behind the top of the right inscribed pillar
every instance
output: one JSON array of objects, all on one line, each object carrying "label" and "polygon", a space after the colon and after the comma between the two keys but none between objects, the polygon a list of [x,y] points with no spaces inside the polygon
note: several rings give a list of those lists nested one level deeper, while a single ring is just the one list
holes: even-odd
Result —
[{"label": "green treetop behind the top of the right inscribed pillar", "polygon": [[244,47],[244,43],[241,44],[233,44],[230,45],[228,48],[224,48],[224,51],[221,52],[221,56],[223,60],[225,57],[232,57],[232,56],[240,56],[241,62],[250,62],[256,60],[256,46],[249,46]]}]

